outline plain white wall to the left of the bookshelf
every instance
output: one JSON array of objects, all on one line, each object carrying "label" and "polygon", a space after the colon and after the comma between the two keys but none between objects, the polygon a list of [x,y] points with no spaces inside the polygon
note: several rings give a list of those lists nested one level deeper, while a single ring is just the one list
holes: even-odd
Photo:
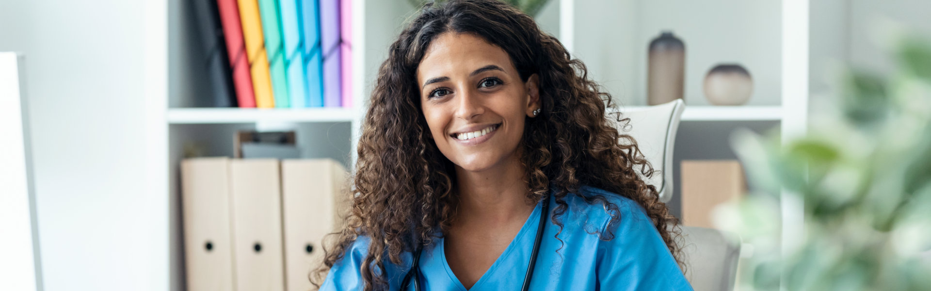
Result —
[{"label": "plain white wall to the left of the bookshelf", "polygon": [[145,185],[143,1],[0,0],[26,55],[46,290],[168,289],[167,201]]}]

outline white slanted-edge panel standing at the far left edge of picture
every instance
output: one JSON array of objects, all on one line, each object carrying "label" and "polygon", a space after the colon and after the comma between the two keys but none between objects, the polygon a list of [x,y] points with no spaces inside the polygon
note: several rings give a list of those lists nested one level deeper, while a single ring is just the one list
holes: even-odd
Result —
[{"label": "white slanted-edge panel standing at the far left edge of picture", "polygon": [[22,57],[0,52],[0,274],[5,290],[41,290]]}]

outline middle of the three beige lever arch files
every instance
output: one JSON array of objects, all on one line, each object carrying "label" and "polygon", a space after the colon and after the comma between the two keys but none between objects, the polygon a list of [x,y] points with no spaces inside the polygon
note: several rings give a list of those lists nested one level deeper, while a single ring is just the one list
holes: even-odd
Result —
[{"label": "middle of the three beige lever arch files", "polygon": [[281,184],[277,159],[232,159],[236,290],[284,290]]}]

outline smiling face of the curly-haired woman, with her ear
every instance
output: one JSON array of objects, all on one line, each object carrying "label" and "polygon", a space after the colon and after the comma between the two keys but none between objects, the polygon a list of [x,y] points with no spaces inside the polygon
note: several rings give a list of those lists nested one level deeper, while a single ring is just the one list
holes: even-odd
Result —
[{"label": "smiling face of the curly-haired woman, with her ear", "polygon": [[516,160],[524,118],[540,107],[537,76],[521,81],[505,50],[476,35],[434,39],[417,84],[439,151],[470,172]]}]

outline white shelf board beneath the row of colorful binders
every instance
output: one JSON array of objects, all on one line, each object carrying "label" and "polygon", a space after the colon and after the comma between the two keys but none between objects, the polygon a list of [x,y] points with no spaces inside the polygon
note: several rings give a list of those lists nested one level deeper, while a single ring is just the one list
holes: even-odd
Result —
[{"label": "white shelf board beneath the row of colorful binders", "polygon": [[351,122],[355,108],[170,108],[169,124]]}]

